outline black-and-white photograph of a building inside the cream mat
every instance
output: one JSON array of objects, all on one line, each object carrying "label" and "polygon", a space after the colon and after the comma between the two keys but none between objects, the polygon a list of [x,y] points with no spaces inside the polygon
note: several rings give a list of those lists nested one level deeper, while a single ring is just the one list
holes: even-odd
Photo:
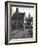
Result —
[{"label": "black-and-white photograph of a building inside the cream mat", "polygon": [[11,38],[32,38],[33,8],[12,7],[11,9]]}]

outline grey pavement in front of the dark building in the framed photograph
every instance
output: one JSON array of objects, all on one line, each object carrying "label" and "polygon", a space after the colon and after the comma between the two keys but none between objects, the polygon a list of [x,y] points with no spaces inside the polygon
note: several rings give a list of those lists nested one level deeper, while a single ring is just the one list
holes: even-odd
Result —
[{"label": "grey pavement in front of the dark building in the framed photograph", "polygon": [[31,35],[28,32],[29,29],[23,30],[18,29],[11,32],[11,39],[18,39],[18,38],[31,38]]}]

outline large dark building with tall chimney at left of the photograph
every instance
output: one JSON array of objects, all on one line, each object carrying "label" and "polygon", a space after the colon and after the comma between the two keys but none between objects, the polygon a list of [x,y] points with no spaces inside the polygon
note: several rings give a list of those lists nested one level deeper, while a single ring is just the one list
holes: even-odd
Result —
[{"label": "large dark building with tall chimney at left of the photograph", "polygon": [[12,29],[23,29],[23,23],[24,23],[24,14],[20,13],[18,11],[18,8],[16,9],[16,12],[13,14],[12,17]]}]

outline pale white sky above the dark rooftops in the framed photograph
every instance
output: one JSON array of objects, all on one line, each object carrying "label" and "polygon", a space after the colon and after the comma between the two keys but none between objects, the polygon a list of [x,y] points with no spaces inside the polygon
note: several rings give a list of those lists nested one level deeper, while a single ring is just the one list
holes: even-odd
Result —
[{"label": "pale white sky above the dark rooftops in the framed photograph", "polygon": [[11,15],[13,15],[13,13],[15,13],[15,11],[16,11],[16,8],[18,8],[18,11],[20,13],[24,13],[25,12],[26,17],[29,15],[29,13],[30,13],[31,16],[33,16],[34,15],[34,11],[35,11],[34,8],[26,8],[26,7],[11,7],[11,8],[12,8],[12,14]]}]

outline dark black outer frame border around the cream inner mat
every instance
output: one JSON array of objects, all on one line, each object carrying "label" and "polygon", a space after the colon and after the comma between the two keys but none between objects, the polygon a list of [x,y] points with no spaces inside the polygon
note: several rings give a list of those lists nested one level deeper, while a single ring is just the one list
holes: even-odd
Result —
[{"label": "dark black outer frame border around the cream inner mat", "polygon": [[[8,43],[8,3],[20,3],[20,4],[33,4],[36,5],[36,41],[31,42],[19,42],[19,43]],[[6,18],[7,16],[7,18]],[[7,19],[7,22],[6,22]],[[6,30],[6,23],[7,23],[7,30]],[[5,2],[5,44],[12,45],[12,44],[27,44],[27,43],[37,43],[37,3],[32,2],[15,2],[15,1],[6,1]]]}]

